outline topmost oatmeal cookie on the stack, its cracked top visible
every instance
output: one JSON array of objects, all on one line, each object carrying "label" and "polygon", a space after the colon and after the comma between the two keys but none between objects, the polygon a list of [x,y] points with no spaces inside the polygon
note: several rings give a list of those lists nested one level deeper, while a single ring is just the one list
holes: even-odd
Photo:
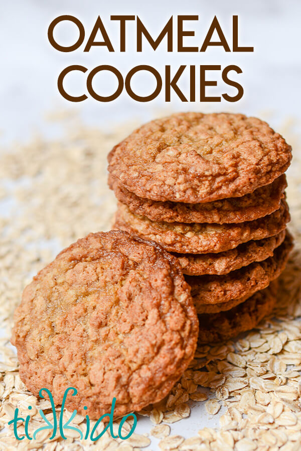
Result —
[{"label": "topmost oatmeal cookie on the stack, its cracked top visible", "polygon": [[178,113],[142,125],[108,155],[108,170],[139,197],[211,202],[240,197],[285,172],[291,147],[243,114]]}]

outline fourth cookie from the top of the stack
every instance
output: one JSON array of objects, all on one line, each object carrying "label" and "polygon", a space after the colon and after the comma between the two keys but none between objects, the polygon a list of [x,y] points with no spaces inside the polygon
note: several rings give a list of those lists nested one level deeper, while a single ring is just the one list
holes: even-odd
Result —
[{"label": "fourth cookie from the top of the stack", "polygon": [[219,254],[174,254],[188,276],[224,275],[273,255],[285,238],[285,230],[263,240],[251,240]]}]

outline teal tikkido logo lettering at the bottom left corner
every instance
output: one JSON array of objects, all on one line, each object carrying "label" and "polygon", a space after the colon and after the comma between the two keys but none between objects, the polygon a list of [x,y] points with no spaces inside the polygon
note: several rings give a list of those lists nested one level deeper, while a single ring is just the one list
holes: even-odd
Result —
[{"label": "teal tikkido logo lettering at the bottom left corner", "polygon": [[[135,430],[135,427],[136,427],[136,424],[137,424],[137,417],[136,417],[136,415],[135,415],[134,413],[128,413],[127,415],[123,416],[123,417],[121,418],[120,423],[119,423],[119,427],[118,427],[118,435],[115,435],[115,434],[113,433],[113,415],[114,415],[114,407],[115,407],[116,398],[113,398],[113,400],[112,400],[111,412],[110,412],[110,413],[105,413],[105,414],[102,415],[100,418],[98,418],[98,420],[96,421],[96,423],[94,424],[94,426],[93,426],[93,428],[92,428],[92,430],[91,430],[91,433],[90,433],[90,418],[89,418],[89,415],[86,415],[86,433],[85,433],[85,436],[83,435],[83,432],[82,432],[81,429],[79,429],[78,427],[75,427],[75,426],[70,426],[71,421],[74,419],[74,417],[75,417],[75,415],[76,415],[76,413],[77,413],[77,410],[76,410],[76,409],[73,410],[72,415],[70,416],[70,418],[64,423],[64,422],[63,422],[64,407],[65,407],[65,402],[66,402],[67,394],[68,394],[68,392],[69,392],[70,390],[73,390],[73,393],[71,393],[71,396],[75,396],[75,395],[77,394],[77,389],[74,388],[74,387],[69,387],[69,388],[66,389],[66,391],[65,391],[65,393],[64,393],[64,396],[63,396],[62,407],[61,407],[61,412],[60,412],[60,416],[59,416],[59,431],[60,431],[61,437],[62,437],[64,440],[67,439],[67,437],[66,437],[65,434],[64,434],[64,429],[71,429],[71,430],[77,431],[78,434],[79,434],[79,438],[80,438],[81,440],[82,440],[82,439],[85,439],[85,440],[86,440],[87,438],[89,438],[89,435],[90,435],[90,440],[91,440],[91,441],[96,441],[96,440],[98,440],[98,439],[105,433],[105,431],[106,431],[108,428],[110,428],[110,433],[111,433],[111,437],[112,437],[112,438],[117,438],[117,437],[119,437],[119,438],[121,438],[122,440],[125,440],[126,438],[128,438],[128,437],[131,436],[131,434],[132,434],[133,431]],[[25,435],[26,435],[26,437],[27,437],[29,440],[32,440],[32,439],[35,440],[36,437],[37,437],[37,434],[38,434],[39,432],[41,432],[42,430],[46,430],[46,429],[52,430],[52,435],[51,435],[51,437],[49,437],[50,440],[52,440],[52,439],[56,436],[57,429],[58,429],[58,420],[57,420],[57,416],[56,416],[56,411],[55,411],[55,405],[54,405],[53,397],[52,397],[52,394],[51,394],[50,390],[48,390],[48,388],[41,388],[41,390],[39,391],[39,396],[40,396],[41,398],[44,398],[43,391],[46,392],[46,393],[48,394],[48,396],[49,396],[49,400],[50,400],[50,403],[51,403],[52,414],[53,414],[53,424],[49,421],[48,418],[46,418],[46,416],[44,415],[43,410],[39,410],[39,413],[40,413],[41,417],[43,418],[43,420],[45,421],[46,426],[42,426],[42,427],[39,427],[38,429],[36,429],[36,430],[34,431],[34,433],[33,433],[33,436],[31,437],[31,436],[29,435],[29,432],[28,432],[28,424],[29,424],[29,420],[30,420],[31,416],[30,416],[30,415],[27,415],[26,419],[24,419],[24,418],[18,416],[18,414],[19,414],[19,409],[16,408],[16,409],[15,409],[14,419],[12,419],[11,421],[9,421],[8,424],[13,424],[13,425],[14,425],[14,434],[15,434],[15,437],[17,438],[17,440],[23,440],[23,439],[25,438]],[[29,408],[29,410],[31,410],[31,409],[32,409],[32,406],[30,405],[28,408]],[[84,410],[87,410],[87,406],[84,406]],[[130,429],[130,431],[128,432],[128,434],[125,435],[125,436],[122,436],[122,434],[121,434],[121,432],[122,432],[122,426],[123,426],[124,422],[126,421],[126,419],[127,419],[129,416],[132,416],[133,419],[134,419],[133,425],[131,426],[131,429]],[[95,432],[96,432],[96,429],[97,429],[97,426],[100,424],[100,422],[101,422],[105,417],[108,417],[108,418],[109,418],[109,421],[108,421],[107,425],[104,427],[104,429],[103,429],[98,435],[94,436],[94,434],[95,434]],[[23,436],[21,436],[21,437],[18,435],[18,430],[17,430],[18,421],[22,421],[22,422],[25,421],[25,435],[23,435]]]}]

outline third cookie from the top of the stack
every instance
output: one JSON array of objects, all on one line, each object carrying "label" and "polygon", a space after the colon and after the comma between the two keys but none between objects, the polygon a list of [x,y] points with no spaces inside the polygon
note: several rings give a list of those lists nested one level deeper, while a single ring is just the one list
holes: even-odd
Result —
[{"label": "third cookie from the top of the stack", "polygon": [[250,240],[261,240],[278,234],[289,221],[288,206],[263,218],[240,224],[197,224],[156,222],[132,213],[119,202],[114,229],[125,230],[146,240],[160,243],[167,251],[178,254],[208,254],[234,249]]}]

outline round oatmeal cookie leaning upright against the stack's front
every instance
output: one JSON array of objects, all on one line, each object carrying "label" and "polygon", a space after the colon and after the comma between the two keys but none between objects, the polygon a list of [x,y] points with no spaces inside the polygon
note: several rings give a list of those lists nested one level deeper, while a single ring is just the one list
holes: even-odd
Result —
[{"label": "round oatmeal cookie leaning upright against the stack's front", "polygon": [[[15,312],[20,376],[90,418],[164,398],[194,356],[198,318],[180,264],[124,232],[90,234],[34,277]],[[87,406],[87,412],[84,410]]]}]

